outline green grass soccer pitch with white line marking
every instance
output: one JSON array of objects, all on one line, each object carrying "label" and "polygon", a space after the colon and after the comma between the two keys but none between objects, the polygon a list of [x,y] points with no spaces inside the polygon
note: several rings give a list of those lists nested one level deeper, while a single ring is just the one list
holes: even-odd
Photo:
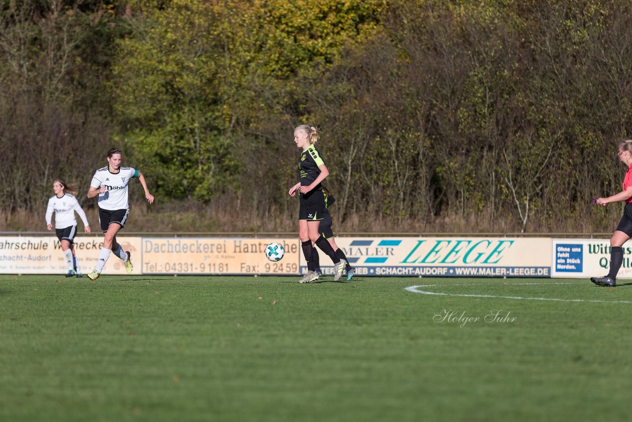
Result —
[{"label": "green grass soccer pitch with white line marking", "polygon": [[0,420],[629,419],[632,285],[296,280],[0,275]]}]

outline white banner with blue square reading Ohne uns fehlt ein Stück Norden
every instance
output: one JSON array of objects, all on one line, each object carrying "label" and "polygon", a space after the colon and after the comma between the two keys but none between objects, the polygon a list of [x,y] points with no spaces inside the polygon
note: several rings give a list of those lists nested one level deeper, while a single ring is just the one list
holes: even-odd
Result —
[{"label": "white banner with blue square reading Ohne uns fehlt ein St\u00fcck Norden", "polygon": [[[632,278],[632,247],[623,245],[623,264],[617,278]],[[553,239],[552,276],[601,277],[610,270],[610,239]]]}]

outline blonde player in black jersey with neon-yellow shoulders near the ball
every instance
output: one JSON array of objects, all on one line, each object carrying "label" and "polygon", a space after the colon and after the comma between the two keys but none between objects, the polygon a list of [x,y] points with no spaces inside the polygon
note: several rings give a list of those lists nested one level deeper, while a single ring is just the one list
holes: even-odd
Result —
[{"label": "blonde player in black jersey with neon-yellow shoulders near the ball", "polygon": [[334,281],[340,279],[346,266],[346,261],[336,255],[327,239],[322,237],[319,231],[320,221],[325,214],[325,197],[321,183],[329,176],[329,170],[315,147],[318,140],[319,130],[316,127],[300,125],[294,129],[294,142],[302,151],[298,161],[299,182],[289,189],[288,194],[292,197],[296,196],[296,192],[299,194],[298,237],[301,239],[301,249],[307,261],[307,273],[299,283],[310,283],[318,278],[313,261],[315,251],[312,242],[329,255],[334,263],[336,267]]}]

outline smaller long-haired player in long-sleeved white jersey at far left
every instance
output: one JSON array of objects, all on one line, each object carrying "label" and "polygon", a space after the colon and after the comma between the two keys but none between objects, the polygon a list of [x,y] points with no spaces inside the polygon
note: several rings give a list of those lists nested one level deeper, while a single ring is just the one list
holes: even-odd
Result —
[{"label": "smaller long-haired player in long-sleeved white jersey at far left", "polygon": [[75,211],[83,221],[83,230],[85,230],[88,235],[90,234],[88,219],[85,217],[83,208],[81,208],[75,197],[77,193],[76,187],[76,183],[66,184],[63,180],[56,179],[52,182],[52,192],[54,192],[54,195],[48,200],[48,206],[46,208],[46,228],[49,232],[52,230],[52,213],[55,213],[55,234],[59,242],[61,242],[61,251],[64,253],[66,264],[68,264],[66,277],[75,275],[83,277],[75,255],[75,235],[77,232]]}]

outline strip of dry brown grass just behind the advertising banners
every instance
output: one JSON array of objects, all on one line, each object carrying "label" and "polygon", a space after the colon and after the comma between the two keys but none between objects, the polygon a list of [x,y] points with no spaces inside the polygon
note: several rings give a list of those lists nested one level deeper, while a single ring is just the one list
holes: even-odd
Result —
[{"label": "strip of dry brown grass just behind the advertising banners", "polygon": [[[592,207],[591,207],[592,208]],[[99,234],[98,211],[94,207],[84,207],[88,221],[94,233]],[[46,204],[42,205],[39,213],[28,211],[13,211],[11,213],[0,209],[0,232],[46,232],[44,212]],[[605,210],[595,210],[605,211]],[[612,213],[618,211],[612,210]],[[267,217],[246,213],[245,210],[222,208],[221,204],[202,204],[191,202],[170,202],[147,205],[142,202],[131,204],[130,217],[123,233],[297,233],[296,216],[298,208],[293,212],[271,214]],[[465,216],[445,216],[434,218],[432,221],[420,221],[413,218],[393,221],[384,216],[370,216],[355,214],[348,216],[345,221],[337,218],[332,207],[334,218],[334,233],[518,233],[512,218],[501,218],[490,221],[489,214],[480,213]],[[77,218],[80,233],[82,223]],[[611,221],[616,220],[616,215]],[[591,227],[588,220],[569,220],[568,223],[549,230],[545,225],[541,230],[533,230],[530,235],[547,235],[556,233],[590,233],[603,236],[610,232],[611,227],[605,226],[601,230]]]}]

